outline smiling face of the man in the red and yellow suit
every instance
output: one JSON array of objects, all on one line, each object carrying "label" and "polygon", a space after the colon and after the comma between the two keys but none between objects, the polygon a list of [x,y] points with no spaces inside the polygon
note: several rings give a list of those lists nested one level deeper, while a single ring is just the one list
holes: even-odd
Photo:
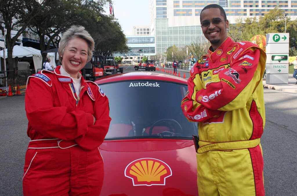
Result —
[{"label": "smiling face of the man in the red and yellow suit", "polygon": [[[216,50],[228,36],[226,28],[229,28],[229,21],[219,19],[224,19],[219,8],[209,8],[203,10],[201,13],[201,24],[210,22],[208,26],[201,25],[201,28],[204,36],[210,41],[214,50]],[[214,24],[211,22],[213,20],[219,22]]]}]

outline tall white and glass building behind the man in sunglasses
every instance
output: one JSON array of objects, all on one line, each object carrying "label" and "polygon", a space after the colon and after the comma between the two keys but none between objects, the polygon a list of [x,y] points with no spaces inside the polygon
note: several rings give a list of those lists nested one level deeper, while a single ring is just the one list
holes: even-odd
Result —
[{"label": "tall white and glass building behind the man in sunglasses", "polygon": [[173,45],[184,47],[191,42],[206,42],[200,27],[200,12],[208,4],[221,5],[230,24],[236,23],[237,18],[263,16],[275,7],[291,20],[297,16],[297,1],[150,0],[150,29],[156,38],[156,54]]}]

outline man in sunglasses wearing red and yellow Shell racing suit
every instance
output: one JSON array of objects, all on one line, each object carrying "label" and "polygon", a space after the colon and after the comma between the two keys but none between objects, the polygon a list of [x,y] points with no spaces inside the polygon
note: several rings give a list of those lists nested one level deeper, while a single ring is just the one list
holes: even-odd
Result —
[{"label": "man in sunglasses wearing red and yellow Shell racing suit", "polygon": [[264,195],[260,137],[266,54],[251,42],[228,37],[221,6],[204,7],[200,21],[211,47],[191,69],[181,102],[188,120],[199,122],[199,195]]}]

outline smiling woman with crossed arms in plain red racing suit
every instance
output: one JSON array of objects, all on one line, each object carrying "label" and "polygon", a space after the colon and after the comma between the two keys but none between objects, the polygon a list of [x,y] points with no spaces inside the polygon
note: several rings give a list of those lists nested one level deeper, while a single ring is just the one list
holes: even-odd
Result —
[{"label": "smiling woman with crossed arms in plain red racing suit", "polygon": [[80,74],[93,49],[84,27],[72,26],[60,41],[62,65],[28,78],[25,196],[100,193],[104,170],[98,146],[111,118],[104,92]]}]

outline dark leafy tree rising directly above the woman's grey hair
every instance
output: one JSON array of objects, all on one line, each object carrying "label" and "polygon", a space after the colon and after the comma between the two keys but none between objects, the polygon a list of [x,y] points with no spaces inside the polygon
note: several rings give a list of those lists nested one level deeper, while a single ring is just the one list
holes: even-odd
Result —
[{"label": "dark leafy tree rising directly above the woman's grey hair", "polygon": [[[50,49],[51,43],[58,46],[59,34],[71,25],[92,26],[93,24],[86,21],[89,21],[90,17],[100,18],[102,7],[107,2],[107,0],[43,0],[37,3],[35,6],[39,7],[41,13],[31,21],[29,28],[40,37],[41,53]],[[46,55],[42,53],[43,59]]]}]

